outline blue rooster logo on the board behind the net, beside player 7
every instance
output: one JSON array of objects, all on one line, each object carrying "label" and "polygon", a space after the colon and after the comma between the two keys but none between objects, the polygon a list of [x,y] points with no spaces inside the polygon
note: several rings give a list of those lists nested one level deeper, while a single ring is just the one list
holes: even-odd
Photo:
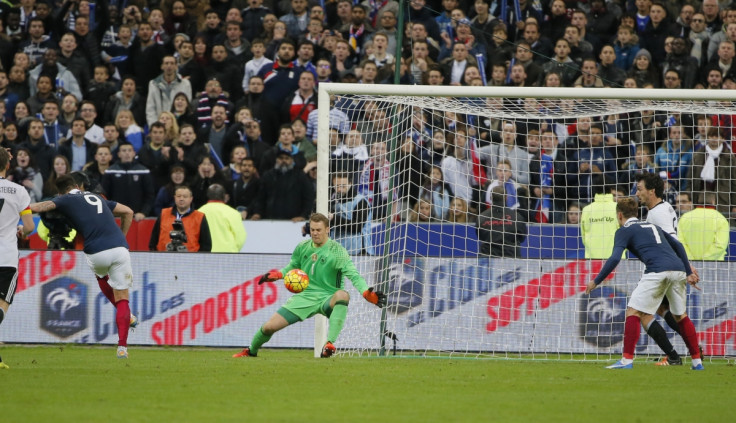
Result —
[{"label": "blue rooster logo on the board behind the net, beside player 7", "polygon": [[607,348],[624,339],[626,293],[610,286],[600,286],[580,301],[580,336],[599,348]]}]

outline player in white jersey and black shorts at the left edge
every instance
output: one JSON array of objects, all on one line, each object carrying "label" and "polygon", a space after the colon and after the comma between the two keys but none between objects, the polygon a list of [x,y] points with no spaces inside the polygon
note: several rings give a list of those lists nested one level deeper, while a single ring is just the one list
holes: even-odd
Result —
[{"label": "player in white jersey and black shorts at the left edge", "polygon": [[[13,303],[18,283],[18,239],[33,232],[31,197],[25,187],[5,179],[13,156],[0,147],[0,323]],[[18,221],[22,224],[18,224]],[[8,365],[0,358],[0,369]]]}]

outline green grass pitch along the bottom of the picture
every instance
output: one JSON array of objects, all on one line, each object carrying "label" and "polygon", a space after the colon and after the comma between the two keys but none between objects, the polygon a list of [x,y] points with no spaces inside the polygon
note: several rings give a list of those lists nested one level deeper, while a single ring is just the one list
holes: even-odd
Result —
[{"label": "green grass pitch along the bottom of the picture", "polygon": [[[2,346],[3,422],[724,422],[725,361],[314,359],[306,350]],[[730,412],[728,410],[731,410]]]}]

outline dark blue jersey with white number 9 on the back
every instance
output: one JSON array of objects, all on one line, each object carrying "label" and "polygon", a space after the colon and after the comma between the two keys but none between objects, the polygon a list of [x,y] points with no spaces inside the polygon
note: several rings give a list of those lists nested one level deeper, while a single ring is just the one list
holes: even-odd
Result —
[{"label": "dark blue jersey with white number 9 on the back", "polygon": [[111,248],[128,248],[123,232],[115,222],[112,210],[118,203],[91,192],[73,191],[51,199],[56,210],[84,238],[84,252],[95,254]]}]

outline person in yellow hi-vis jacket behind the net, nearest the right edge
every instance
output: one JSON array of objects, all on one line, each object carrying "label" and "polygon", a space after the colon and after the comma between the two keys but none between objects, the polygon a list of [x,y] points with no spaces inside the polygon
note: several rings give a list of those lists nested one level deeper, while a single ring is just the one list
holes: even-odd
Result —
[{"label": "person in yellow hi-vis jacket behind the net, nearest the right edge", "polygon": [[694,210],[683,213],[677,234],[690,260],[723,261],[729,242],[729,225],[716,210],[714,192],[703,194],[703,202]]}]

